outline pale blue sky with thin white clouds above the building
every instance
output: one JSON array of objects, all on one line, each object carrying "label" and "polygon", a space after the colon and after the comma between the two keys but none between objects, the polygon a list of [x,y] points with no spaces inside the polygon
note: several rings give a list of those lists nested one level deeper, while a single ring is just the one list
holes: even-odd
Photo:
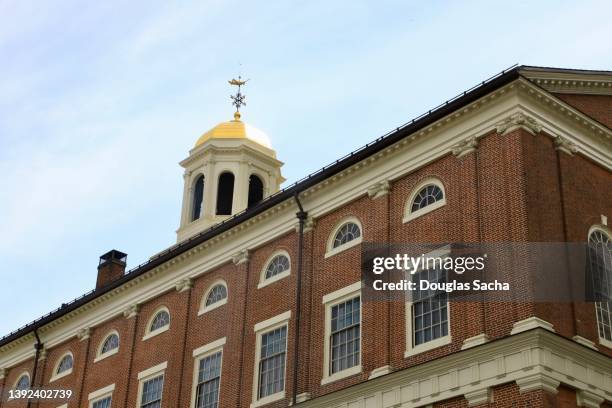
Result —
[{"label": "pale blue sky with thin white clouds above the building", "polygon": [[609,1],[0,0],[0,336],[176,242],[182,169],[230,120],[288,185],[515,63],[612,70]]}]

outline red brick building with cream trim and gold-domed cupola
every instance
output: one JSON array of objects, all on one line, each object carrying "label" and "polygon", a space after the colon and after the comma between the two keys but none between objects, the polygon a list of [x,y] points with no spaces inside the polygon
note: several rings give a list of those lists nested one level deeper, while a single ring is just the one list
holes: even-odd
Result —
[{"label": "red brick building with cream trim and gold-domed cupola", "polygon": [[360,282],[362,242],[591,240],[609,273],[612,72],[513,68],[283,190],[239,114],[181,165],[176,245],[0,339],[5,392],[72,398],[0,408],[612,407],[610,303]]}]

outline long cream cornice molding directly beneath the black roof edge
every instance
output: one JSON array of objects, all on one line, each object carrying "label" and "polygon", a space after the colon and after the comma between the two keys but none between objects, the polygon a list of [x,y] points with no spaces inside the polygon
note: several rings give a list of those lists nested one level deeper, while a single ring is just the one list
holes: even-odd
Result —
[{"label": "long cream cornice molding directly beneath the black roof edge", "polygon": [[[610,129],[528,80],[519,79],[302,192],[304,207],[313,218],[327,214],[365,195],[364,185],[401,178],[452,153],[462,141],[478,140],[496,131],[497,125],[517,113],[533,118],[547,135],[563,137],[577,146],[579,154],[612,170]],[[59,317],[40,328],[45,344],[59,344],[75,336],[80,327],[95,327],[131,304],[175,289],[181,278],[197,277],[232,261],[232,254],[245,247],[257,248],[292,231],[295,211],[295,203],[287,199]],[[28,333],[2,346],[0,365],[10,367],[31,358],[33,342]]]}]

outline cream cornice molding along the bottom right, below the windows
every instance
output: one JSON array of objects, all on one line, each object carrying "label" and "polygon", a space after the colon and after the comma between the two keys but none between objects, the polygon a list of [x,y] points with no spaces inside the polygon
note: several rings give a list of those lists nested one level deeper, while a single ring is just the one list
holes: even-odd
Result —
[{"label": "cream cornice molding along the bottom right, below the windows", "polygon": [[[499,364],[503,361],[503,364]],[[612,397],[609,357],[535,329],[462,350],[306,401],[304,408],[427,406],[465,397],[486,402],[493,387],[516,382],[520,392],[556,393],[563,383],[593,401]],[[384,401],[384,404],[383,404]]]}]

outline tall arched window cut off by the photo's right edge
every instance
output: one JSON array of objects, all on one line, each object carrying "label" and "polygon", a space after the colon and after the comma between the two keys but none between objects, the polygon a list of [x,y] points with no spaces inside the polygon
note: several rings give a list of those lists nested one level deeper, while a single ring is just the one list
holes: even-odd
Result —
[{"label": "tall arched window cut off by the photo's right edge", "polygon": [[[592,229],[589,234],[588,260],[595,297],[610,299],[612,295],[612,238],[603,229]],[[595,302],[595,311],[600,342],[612,347],[612,301]]]}]

